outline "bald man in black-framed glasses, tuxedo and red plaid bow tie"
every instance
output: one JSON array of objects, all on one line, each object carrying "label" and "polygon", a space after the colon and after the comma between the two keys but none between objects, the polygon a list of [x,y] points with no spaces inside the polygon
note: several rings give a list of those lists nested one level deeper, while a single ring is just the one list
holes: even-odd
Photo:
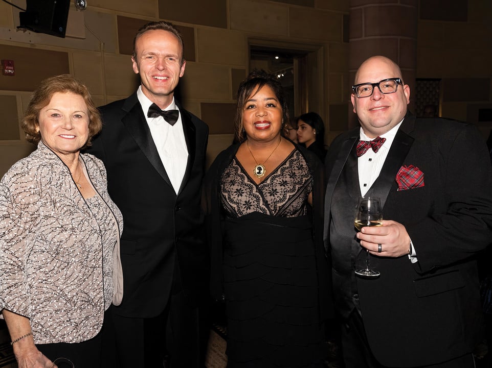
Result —
[{"label": "bald man in black-framed glasses, tuxedo and red plaid bow tie", "polygon": [[[345,365],[473,367],[483,325],[474,256],[492,239],[485,141],[472,125],[416,119],[399,67],[382,56],[357,70],[351,100],[361,127],[334,139],[325,162]],[[382,226],[355,230],[361,196],[381,199]],[[381,276],[354,274],[366,250]]]}]

